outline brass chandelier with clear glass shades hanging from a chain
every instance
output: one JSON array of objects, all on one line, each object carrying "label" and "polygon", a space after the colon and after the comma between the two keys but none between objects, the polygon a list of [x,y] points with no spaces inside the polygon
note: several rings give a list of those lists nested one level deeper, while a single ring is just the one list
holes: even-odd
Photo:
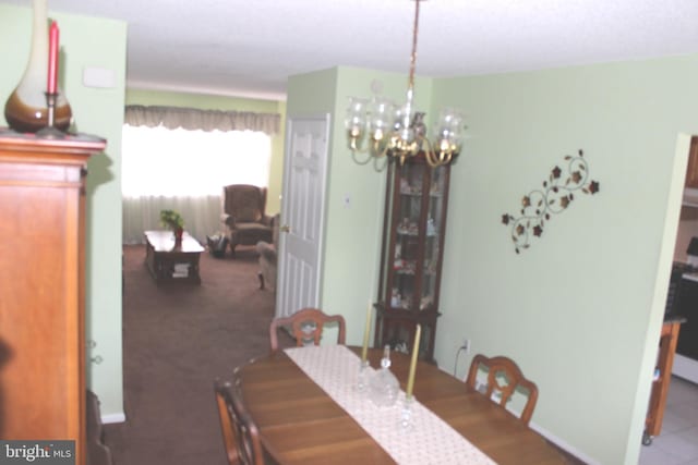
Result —
[{"label": "brass chandelier with clear glass shades hanging from a chain", "polygon": [[[353,156],[369,154],[371,158],[388,157],[400,164],[409,157],[423,154],[426,162],[435,168],[450,163],[460,152],[462,115],[453,109],[444,109],[438,115],[432,140],[426,137],[425,113],[414,111],[414,66],[417,62],[417,35],[419,30],[419,3],[414,0],[414,27],[412,53],[407,84],[407,99],[400,107],[387,99],[350,97],[347,109],[347,136]],[[366,137],[369,146],[362,148]]]}]

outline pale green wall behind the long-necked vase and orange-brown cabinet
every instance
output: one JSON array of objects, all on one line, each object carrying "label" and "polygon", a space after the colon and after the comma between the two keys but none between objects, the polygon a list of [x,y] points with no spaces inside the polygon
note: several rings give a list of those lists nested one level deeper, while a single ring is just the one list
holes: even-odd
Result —
[{"label": "pale green wall behind the long-necked vase and orange-brown cabinet", "polygon": [[[119,420],[123,416],[120,152],[127,26],[119,21],[53,13],[49,5],[49,16],[60,26],[59,83],[71,105],[75,131],[107,139],[105,152],[89,160],[87,176],[86,335],[95,344],[87,350],[87,384],[99,396],[106,419]],[[31,34],[32,10],[0,3],[2,96],[10,96],[24,73]],[[112,70],[116,86],[84,86],[83,70],[88,66]],[[0,118],[0,124],[7,125],[4,115]]]}]

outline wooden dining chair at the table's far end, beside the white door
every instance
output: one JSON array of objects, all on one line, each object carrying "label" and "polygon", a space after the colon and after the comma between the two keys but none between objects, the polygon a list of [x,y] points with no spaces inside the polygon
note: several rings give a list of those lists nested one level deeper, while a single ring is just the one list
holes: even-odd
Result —
[{"label": "wooden dining chair at the table's far end, beside the white door", "polygon": [[341,315],[327,315],[317,308],[302,308],[290,317],[274,318],[269,325],[269,343],[272,352],[279,347],[278,331],[289,328],[291,336],[296,339],[296,345],[320,345],[325,323],[337,323],[337,343],[344,344],[346,339],[346,322]]}]

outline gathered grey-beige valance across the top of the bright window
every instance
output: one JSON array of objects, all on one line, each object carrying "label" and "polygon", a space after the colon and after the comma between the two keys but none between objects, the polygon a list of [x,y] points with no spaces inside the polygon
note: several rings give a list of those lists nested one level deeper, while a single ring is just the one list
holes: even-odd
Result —
[{"label": "gathered grey-beige valance across the top of the bright window", "polygon": [[274,135],[279,132],[280,120],[278,113],[129,105],[125,108],[124,122],[132,126],[163,125],[168,130],[182,127],[189,131],[260,131]]}]

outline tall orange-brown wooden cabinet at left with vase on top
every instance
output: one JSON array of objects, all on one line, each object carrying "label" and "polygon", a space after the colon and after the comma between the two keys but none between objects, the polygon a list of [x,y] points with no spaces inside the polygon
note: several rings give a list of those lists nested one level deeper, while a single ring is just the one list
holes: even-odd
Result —
[{"label": "tall orange-brown wooden cabinet at left with vase on top", "polygon": [[0,438],[85,463],[85,176],[106,142],[0,129]]}]

